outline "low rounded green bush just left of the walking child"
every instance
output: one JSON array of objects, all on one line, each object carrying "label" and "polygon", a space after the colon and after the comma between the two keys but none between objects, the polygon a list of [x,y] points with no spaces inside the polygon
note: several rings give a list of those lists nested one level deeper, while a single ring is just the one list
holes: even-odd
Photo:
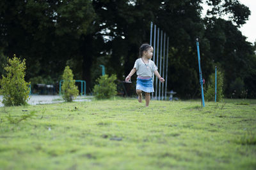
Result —
[{"label": "low rounded green bush just left of the walking child", "polygon": [[115,96],[117,94],[116,84],[114,83],[115,80],[116,75],[109,77],[108,74],[105,74],[104,76],[100,76],[100,78],[96,80],[98,84],[93,87],[96,99],[109,99]]}]

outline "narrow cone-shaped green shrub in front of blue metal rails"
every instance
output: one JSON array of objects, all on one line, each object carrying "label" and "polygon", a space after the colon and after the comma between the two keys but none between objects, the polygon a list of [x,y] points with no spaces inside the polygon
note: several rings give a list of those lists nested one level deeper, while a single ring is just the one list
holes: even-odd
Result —
[{"label": "narrow cone-shaped green shrub in front of blue metal rails", "polygon": [[63,73],[63,85],[61,87],[62,97],[67,102],[72,102],[78,96],[79,90],[76,87],[76,81],[73,80],[73,73],[69,66],[65,67]]}]

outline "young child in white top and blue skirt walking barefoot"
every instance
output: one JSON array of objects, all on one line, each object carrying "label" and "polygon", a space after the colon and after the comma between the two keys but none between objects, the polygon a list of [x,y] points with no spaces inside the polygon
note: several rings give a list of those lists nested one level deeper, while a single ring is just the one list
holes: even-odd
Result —
[{"label": "young child in white top and blue skirt walking barefoot", "polygon": [[142,101],[142,92],[145,92],[146,107],[148,107],[150,101],[150,92],[154,92],[152,76],[153,73],[159,78],[163,83],[164,79],[160,76],[157,71],[156,64],[150,60],[153,56],[153,47],[148,44],[143,44],[140,46],[140,58],[135,61],[134,67],[125,81],[131,80],[131,76],[136,72],[137,83],[136,83],[136,93],[138,94],[138,101]]}]

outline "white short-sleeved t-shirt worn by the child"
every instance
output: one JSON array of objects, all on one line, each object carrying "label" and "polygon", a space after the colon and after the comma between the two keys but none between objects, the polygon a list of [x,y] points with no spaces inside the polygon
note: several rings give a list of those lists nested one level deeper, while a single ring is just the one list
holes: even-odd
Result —
[{"label": "white short-sleeved t-shirt worn by the child", "polygon": [[134,68],[136,68],[136,74],[143,77],[152,77],[157,70],[154,61],[148,60],[148,64],[145,64],[141,58],[135,61]]}]

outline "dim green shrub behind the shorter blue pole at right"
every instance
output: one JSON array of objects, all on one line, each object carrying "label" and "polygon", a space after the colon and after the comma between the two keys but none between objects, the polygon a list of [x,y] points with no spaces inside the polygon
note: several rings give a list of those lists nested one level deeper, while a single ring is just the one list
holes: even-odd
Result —
[{"label": "dim green shrub behind the shorter blue pole at right", "polygon": [[[223,98],[223,74],[217,71],[217,99],[216,101],[221,101]],[[210,75],[210,80],[207,85],[207,90],[205,92],[206,101],[215,101],[215,73]]]}]

